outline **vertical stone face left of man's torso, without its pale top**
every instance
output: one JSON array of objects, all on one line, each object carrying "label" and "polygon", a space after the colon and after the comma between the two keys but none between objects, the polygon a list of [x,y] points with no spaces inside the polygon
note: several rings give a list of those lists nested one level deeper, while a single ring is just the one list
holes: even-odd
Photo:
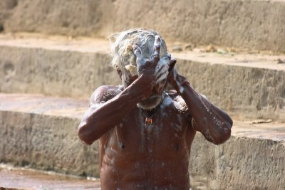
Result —
[{"label": "vertical stone face left of man's torso, without its pale top", "polygon": [[98,144],[86,146],[80,120],[28,112],[0,112],[0,162],[83,176],[99,175]]}]

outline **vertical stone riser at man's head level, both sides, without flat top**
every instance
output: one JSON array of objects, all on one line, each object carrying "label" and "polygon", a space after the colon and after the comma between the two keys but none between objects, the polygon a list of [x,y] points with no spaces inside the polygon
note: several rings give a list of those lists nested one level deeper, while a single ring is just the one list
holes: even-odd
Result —
[{"label": "vertical stone riser at man's head level, both sides, without flat top", "polygon": [[[220,58],[202,61],[199,56],[178,58],[176,65],[199,93],[235,118],[285,121],[284,69],[234,65],[235,57],[221,64]],[[0,57],[2,93],[89,99],[100,85],[120,84],[108,53],[0,46]]]}]

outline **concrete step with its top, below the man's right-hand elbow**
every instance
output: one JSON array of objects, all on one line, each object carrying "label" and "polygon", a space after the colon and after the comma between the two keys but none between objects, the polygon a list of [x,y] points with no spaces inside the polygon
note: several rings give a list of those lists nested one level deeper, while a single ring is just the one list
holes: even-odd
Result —
[{"label": "concrete step with its top, below the man's right-hand elbow", "polygon": [[234,122],[232,137],[219,146],[198,133],[191,154],[196,189],[284,189],[284,123]]}]

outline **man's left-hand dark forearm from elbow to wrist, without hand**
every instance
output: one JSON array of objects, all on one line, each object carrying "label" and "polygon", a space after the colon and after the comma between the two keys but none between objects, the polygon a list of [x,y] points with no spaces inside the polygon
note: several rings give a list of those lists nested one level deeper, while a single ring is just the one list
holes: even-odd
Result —
[{"label": "man's left-hand dark forearm from elbow to wrist, without hand", "polygon": [[152,86],[146,81],[142,76],[111,100],[94,109],[90,107],[79,126],[78,136],[81,140],[86,144],[92,144],[105,132],[118,125],[123,117],[151,92]]}]

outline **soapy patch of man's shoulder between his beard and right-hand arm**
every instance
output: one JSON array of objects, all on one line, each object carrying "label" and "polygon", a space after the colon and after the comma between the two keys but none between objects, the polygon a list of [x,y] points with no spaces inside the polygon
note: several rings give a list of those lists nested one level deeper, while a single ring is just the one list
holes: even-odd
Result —
[{"label": "soapy patch of man's shoulder between his beard and right-hand arm", "polygon": [[165,92],[165,97],[162,102],[164,106],[170,106],[178,112],[187,112],[188,107],[185,100],[176,90],[168,90]]}]

